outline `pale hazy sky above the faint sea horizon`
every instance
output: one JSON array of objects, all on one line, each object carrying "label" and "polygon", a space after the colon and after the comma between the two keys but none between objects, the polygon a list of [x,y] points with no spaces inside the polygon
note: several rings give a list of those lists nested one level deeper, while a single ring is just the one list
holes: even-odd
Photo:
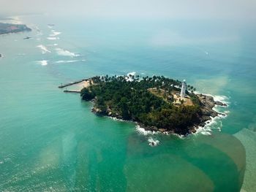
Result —
[{"label": "pale hazy sky above the faint sea horizon", "polygon": [[256,18],[256,0],[0,0],[0,13],[249,20]]}]

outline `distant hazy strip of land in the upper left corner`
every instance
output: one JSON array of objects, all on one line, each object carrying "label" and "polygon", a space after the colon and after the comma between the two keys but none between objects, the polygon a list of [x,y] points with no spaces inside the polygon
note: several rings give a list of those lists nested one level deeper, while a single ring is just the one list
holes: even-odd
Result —
[{"label": "distant hazy strip of land in the upper left corner", "polygon": [[0,23],[0,35],[18,33],[18,32],[24,32],[24,31],[31,31],[31,28],[21,24]]}]

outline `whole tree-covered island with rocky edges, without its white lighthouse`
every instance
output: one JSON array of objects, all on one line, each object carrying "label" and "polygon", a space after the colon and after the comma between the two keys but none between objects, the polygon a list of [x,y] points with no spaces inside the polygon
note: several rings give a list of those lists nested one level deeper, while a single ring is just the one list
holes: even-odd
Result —
[{"label": "whole tree-covered island with rocky edges, without its white lighthouse", "polygon": [[[212,96],[195,94],[188,85],[186,97],[181,98],[181,81],[163,76],[139,75],[96,76],[77,82],[76,90],[84,101],[93,101],[92,112],[119,120],[130,120],[146,131],[187,135],[219,115],[213,108],[227,106]],[[74,85],[75,83],[71,83]],[[67,84],[68,86],[69,84]],[[64,88],[65,85],[59,86]]]}]

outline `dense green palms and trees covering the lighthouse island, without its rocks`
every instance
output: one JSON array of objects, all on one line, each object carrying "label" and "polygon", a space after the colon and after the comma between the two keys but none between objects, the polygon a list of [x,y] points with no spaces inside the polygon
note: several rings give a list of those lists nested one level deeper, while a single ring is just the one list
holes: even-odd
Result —
[{"label": "dense green palms and trees covering the lighthouse island, without its rocks", "polygon": [[163,128],[176,134],[188,134],[189,128],[200,123],[200,100],[194,93],[187,92],[192,106],[173,105],[172,93],[181,87],[178,80],[132,75],[91,80],[94,84],[83,88],[80,96],[86,101],[94,99],[94,112],[99,115],[134,120],[146,128]]}]

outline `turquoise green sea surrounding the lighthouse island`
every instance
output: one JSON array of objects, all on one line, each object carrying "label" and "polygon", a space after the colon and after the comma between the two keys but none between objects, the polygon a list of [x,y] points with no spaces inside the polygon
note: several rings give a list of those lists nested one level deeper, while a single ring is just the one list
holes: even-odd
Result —
[{"label": "turquoise green sea surrounding the lighthouse island", "polygon": [[[251,23],[21,19],[31,33],[0,37],[0,191],[240,191],[243,180],[256,190],[255,146],[246,145],[256,139]],[[144,135],[57,88],[129,72],[186,79],[227,101],[219,110],[228,116],[185,139]]]}]

